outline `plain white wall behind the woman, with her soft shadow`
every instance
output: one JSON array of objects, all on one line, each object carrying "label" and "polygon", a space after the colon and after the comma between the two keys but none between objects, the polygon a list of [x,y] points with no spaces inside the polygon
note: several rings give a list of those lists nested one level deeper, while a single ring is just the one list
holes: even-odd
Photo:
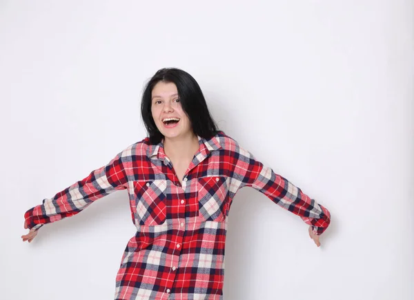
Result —
[{"label": "plain white wall behind the woman, with her soft shadow", "polygon": [[144,82],[183,68],[221,129],[325,205],[253,189],[224,299],[414,299],[413,1],[0,1],[1,299],[112,299],[134,234],[111,194],[22,243],[23,213],[145,137]]}]

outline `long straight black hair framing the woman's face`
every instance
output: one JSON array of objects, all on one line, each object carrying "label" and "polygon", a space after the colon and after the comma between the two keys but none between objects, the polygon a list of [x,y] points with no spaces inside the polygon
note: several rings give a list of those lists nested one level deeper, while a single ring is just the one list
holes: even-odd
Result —
[{"label": "long straight black hair framing the woman's face", "polygon": [[181,106],[190,120],[193,132],[201,138],[212,138],[218,131],[217,124],[208,111],[199,84],[193,76],[179,68],[161,68],[146,84],[141,101],[141,117],[144,120],[151,144],[158,144],[164,138],[164,135],[157,129],[151,113],[152,88],[161,81],[172,82],[177,86]]}]

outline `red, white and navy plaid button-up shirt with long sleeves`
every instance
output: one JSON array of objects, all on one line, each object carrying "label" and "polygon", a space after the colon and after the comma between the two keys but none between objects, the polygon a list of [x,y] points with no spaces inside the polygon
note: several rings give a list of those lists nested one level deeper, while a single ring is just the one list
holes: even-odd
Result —
[{"label": "red, white and navy plaid button-up shirt with long sleeves", "polygon": [[112,191],[128,189],[137,233],[126,246],[115,299],[223,299],[228,212],[242,187],[253,187],[322,234],[330,214],[219,131],[199,138],[182,185],[149,138],[25,214],[29,228],[81,212]]}]

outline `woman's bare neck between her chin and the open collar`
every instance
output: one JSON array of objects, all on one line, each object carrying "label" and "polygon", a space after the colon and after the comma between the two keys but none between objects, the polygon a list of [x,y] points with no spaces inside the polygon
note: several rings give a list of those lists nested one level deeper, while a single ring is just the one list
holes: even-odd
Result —
[{"label": "woman's bare neck between her chin and the open collar", "polygon": [[164,152],[171,160],[193,158],[198,149],[199,141],[193,132],[177,138],[164,138]]}]

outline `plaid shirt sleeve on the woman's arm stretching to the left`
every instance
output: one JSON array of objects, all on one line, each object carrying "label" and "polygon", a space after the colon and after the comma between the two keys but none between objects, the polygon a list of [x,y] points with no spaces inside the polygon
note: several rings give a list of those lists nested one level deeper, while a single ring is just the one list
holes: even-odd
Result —
[{"label": "plaid shirt sleeve on the woman's arm stretching to the left", "polygon": [[92,171],[83,180],[59,191],[53,198],[44,199],[41,205],[29,209],[24,215],[26,224],[29,229],[39,229],[46,223],[78,214],[112,191],[126,189],[127,182],[121,152],[108,165]]}]

